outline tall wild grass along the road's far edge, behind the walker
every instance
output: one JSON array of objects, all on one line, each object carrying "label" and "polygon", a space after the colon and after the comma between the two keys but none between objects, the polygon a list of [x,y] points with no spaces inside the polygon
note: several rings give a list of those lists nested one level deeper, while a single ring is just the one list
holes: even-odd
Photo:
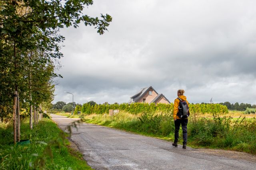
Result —
[{"label": "tall wild grass along the road's far edge, behind the walker", "polygon": [[[121,111],[117,115],[86,115],[88,123],[96,123],[144,135],[174,140],[174,120],[170,114]],[[256,118],[200,117],[192,114],[188,121],[188,145],[231,149],[256,154]],[[182,131],[180,129],[180,143]]]}]

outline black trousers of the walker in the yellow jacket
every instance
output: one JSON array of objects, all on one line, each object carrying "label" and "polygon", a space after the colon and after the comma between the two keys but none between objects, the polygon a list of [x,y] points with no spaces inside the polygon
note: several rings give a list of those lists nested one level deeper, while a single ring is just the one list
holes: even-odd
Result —
[{"label": "black trousers of the walker in the yellow jacket", "polygon": [[182,127],[183,144],[187,144],[187,139],[188,139],[188,134],[187,134],[188,119],[176,119],[174,121],[174,125],[175,125],[174,143],[177,143],[178,139],[179,139],[180,124],[181,124],[181,127]]}]

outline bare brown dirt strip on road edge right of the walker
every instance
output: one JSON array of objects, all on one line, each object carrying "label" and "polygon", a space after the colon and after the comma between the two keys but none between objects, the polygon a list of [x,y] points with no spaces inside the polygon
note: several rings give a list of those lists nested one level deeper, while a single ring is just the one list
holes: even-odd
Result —
[{"label": "bare brown dirt strip on road edge right of the walker", "polygon": [[192,152],[205,153],[214,156],[223,156],[231,159],[247,160],[256,163],[256,155],[245,152],[238,152],[233,150],[222,150],[222,149],[195,149]]}]

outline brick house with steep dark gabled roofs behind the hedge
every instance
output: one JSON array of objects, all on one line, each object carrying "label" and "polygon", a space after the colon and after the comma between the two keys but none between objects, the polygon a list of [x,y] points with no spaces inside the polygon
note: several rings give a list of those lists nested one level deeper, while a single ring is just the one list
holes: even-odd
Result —
[{"label": "brick house with steep dark gabled roofs behind the hedge", "polygon": [[152,86],[140,89],[140,91],[130,97],[128,104],[131,103],[164,103],[170,104],[169,100],[163,95],[158,94]]}]

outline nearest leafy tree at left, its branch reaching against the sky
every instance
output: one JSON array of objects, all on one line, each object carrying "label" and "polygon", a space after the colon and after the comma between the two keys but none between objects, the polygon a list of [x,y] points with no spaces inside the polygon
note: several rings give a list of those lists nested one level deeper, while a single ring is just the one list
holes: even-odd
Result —
[{"label": "nearest leafy tree at left, its branch reaching against the sky", "polygon": [[[32,78],[30,78],[30,86],[24,86],[24,89],[22,89],[21,78],[23,76],[20,69],[23,62],[22,53],[39,49],[43,52],[53,51],[52,53],[45,53],[44,57],[46,59],[62,57],[58,43],[64,37],[54,36],[56,31],[64,26],[73,25],[78,27],[80,22],[84,22],[85,25],[94,25],[97,32],[100,35],[103,34],[112,18],[108,14],[101,14],[102,19],[100,20],[98,17],[92,18],[82,14],[84,6],[92,4],[92,0],[69,0],[64,2],[60,0],[0,1],[0,41],[5,46],[1,46],[1,51],[7,52],[9,59],[10,56],[13,56],[10,67],[5,69],[6,73],[4,73],[4,75],[8,74],[7,77],[10,80],[10,83],[6,85],[9,87],[8,90],[15,91],[15,93],[18,92],[18,88],[20,88],[21,93],[30,92],[30,112],[32,110]],[[32,76],[31,73],[32,70],[30,70],[30,77]],[[41,92],[38,93],[42,94]],[[14,100],[16,100],[15,96]],[[7,103],[12,102],[9,100]],[[13,108],[14,143],[16,143],[16,106],[14,105]]]}]

